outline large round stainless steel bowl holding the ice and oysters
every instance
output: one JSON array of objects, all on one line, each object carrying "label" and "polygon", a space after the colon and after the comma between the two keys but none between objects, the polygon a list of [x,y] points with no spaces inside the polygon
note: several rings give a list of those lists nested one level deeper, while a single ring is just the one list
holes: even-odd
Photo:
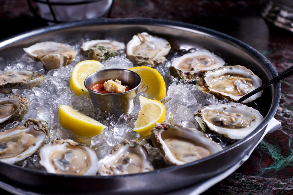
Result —
[{"label": "large round stainless steel bowl holding the ice and oysters", "polygon": [[[70,43],[81,38],[113,38],[129,41],[134,34],[149,32],[166,38],[172,49],[207,48],[225,59],[230,65],[244,65],[263,82],[277,76],[272,64],[258,51],[226,34],[187,23],[133,18],[99,19],[64,23],[29,31],[0,43],[1,65],[21,57],[22,48],[36,42],[54,40]],[[3,68],[3,67],[2,67]],[[223,151],[199,161],[171,166],[147,173],[120,176],[70,176],[55,175],[0,163],[1,180],[24,189],[49,193],[95,194],[160,194],[187,187],[221,173],[239,163],[264,134],[269,120],[275,115],[281,95],[280,83],[268,87],[260,107],[266,114],[264,121],[246,138]],[[243,163],[243,162],[242,162]]]}]

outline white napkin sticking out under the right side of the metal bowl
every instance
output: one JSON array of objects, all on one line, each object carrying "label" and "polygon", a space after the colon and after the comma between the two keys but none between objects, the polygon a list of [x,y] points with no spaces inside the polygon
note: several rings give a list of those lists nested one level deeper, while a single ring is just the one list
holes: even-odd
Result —
[{"label": "white napkin sticking out under the right side of the metal bowl", "polygon": [[249,156],[251,155],[251,153],[253,152],[255,147],[260,143],[261,140],[263,140],[263,137],[265,137],[266,134],[271,133],[271,132],[279,129],[280,127],[281,127],[281,122],[277,121],[275,118],[272,118],[268,122],[268,126],[265,129],[265,133],[260,138],[258,143],[253,147],[253,149],[248,153],[248,155],[244,156],[241,159],[241,161],[238,162],[236,165],[232,166],[231,168],[229,168],[225,172],[222,172],[222,173],[220,173],[219,175],[217,175],[217,176],[215,176],[213,178],[210,178],[208,180],[199,182],[199,183],[193,185],[192,187],[188,187],[188,188],[185,188],[185,189],[182,189],[182,190],[178,190],[178,191],[168,193],[168,195],[179,195],[179,194],[180,195],[197,195],[197,194],[200,194],[200,193],[206,191],[207,189],[209,189],[213,185],[217,184],[218,182],[224,180],[226,177],[228,177],[234,171],[236,171],[249,158]]}]

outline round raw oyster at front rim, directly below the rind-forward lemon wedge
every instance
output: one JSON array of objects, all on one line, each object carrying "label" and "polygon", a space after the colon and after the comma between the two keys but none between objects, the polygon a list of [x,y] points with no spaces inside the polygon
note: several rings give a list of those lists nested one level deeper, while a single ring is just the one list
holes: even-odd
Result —
[{"label": "round raw oyster at front rim, directly below the rind-forward lemon wedge", "polygon": [[40,164],[49,173],[67,175],[96,175],[96,153],[71,139],[53,140],[40,149]]}]

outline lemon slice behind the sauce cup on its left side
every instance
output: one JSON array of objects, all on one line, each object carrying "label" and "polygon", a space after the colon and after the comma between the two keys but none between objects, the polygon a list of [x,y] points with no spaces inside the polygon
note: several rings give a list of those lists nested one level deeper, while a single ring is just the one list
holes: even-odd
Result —
[{"label": "lemon slice behind the sauce cup on its left side", "polygon": [[84,87],[84,80],[88,75],[101,70],[104,67],[99,61],[85,60],[77,63],[71,73],[70,90],[77,96],[87,95],[88,90]]}]

